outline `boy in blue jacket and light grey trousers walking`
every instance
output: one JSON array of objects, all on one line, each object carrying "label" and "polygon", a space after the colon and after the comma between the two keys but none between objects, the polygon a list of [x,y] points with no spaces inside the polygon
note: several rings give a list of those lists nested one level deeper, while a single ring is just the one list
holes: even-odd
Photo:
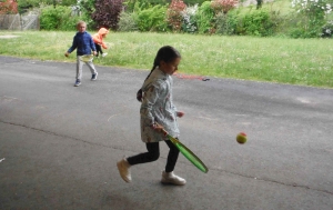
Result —
[{"label": "boy in blue jacket and light grey trousers walking", "polygon": [[84,21],[79,21],[77,23],[77,29],[78,32],[73,38],[72,47],[64,53],[64,56],[68,57],[72,51],[77,49],[77,78],[75,78],[77,80],[74,87],[81,84],[82,67],[84,62],[91,71],[92,74],[91,80],[97,80],[97,76],[98,76],[98,72],[92,63],[92,60],[91,61],[80,60],[80,56],[91,54],[91,51],[94,56],[97,54],[93,40],[91,36],[85,31],[87,23]]}]

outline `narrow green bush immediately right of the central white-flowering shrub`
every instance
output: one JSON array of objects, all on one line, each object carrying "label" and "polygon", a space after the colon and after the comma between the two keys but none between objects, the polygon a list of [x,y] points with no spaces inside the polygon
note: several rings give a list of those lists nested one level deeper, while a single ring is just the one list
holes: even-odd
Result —
[{"label": "narrow green bush immediately right of the central white-flowering shrub", "polygon": [[204,1],[198,10],[196,23],[199,33],[208,33],[214,30],[214,10],[210,1]]}]

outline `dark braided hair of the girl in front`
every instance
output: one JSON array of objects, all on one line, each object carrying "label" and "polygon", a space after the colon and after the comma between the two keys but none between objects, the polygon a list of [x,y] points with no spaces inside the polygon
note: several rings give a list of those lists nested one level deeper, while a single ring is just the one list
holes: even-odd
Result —
[{"label": "dark braided hair of the girl in front", "polygon": [[179,51],[176,49],[174,49],[171,46],[164,46],[162,48],[160,48],[160,50],[158,51],[158,54],[154,59],[154,63],[153,67],[150,71],[150,73],[148,74],[148,77],[145,78],[145,80],[150,77],[150,74],[153,72],[153,70],[160,66],[161,61],[164,62],[171,62],[176,58],[181,58],[181,54],[179,53]]}]

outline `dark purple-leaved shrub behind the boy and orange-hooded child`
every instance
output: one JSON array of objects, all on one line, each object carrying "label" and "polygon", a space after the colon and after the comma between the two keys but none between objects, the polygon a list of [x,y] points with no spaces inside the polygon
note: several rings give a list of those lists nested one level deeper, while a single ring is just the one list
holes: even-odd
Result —
[{"label": "dark purple-leaved shrub behind the boy and orange-hooded child", "polygon": [[98,28],[107,27],[117,30],[123,0],[95,0],[95,11],[91,18],[97,22]]}]

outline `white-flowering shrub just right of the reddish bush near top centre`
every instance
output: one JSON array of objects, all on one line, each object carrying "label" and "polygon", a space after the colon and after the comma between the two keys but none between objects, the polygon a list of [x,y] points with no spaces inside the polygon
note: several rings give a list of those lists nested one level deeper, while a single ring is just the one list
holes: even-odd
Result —
[{"label": "white-flowering shrub just right of the reddish bush near top centre", "polygon": [[198,4],[186,7],[182,11],[183,17],[183,23],[182,23],[182,30],[188,33],[194,33],[198,31],[196,26],[196,12],[198,12]]}]

